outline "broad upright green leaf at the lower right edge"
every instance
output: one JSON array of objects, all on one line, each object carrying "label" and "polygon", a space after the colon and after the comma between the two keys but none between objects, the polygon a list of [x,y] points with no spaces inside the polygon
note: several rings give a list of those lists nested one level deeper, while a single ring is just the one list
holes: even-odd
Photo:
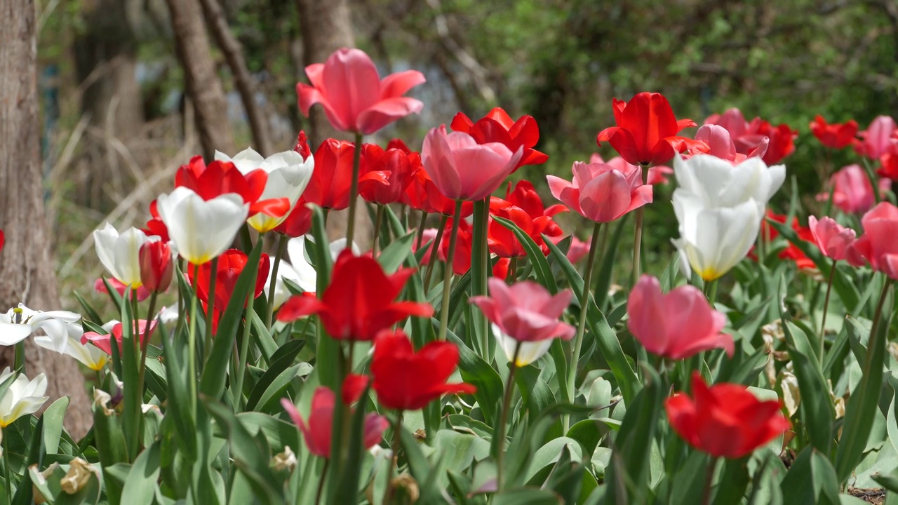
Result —
[{"label": "broad upright green leaf at the lower right edge", "polygon": [[[887,307],[893,306],[889,292],[891,281],[886,281],[880,304]],[[839,482],[845,483],[854,471],[855,466],[863,456],[867,447],[867,439],[873,427],[874,413],[879,405],[879,396],[884,382],[883,361],[885,359],[885,343],[891,320],[892,311],[888,310],[882,315],[882,320],[876,325],[876,332],[870,335],[867,344],[867,352],[863,362],[860,363],[863,376],[860,383],[850,393],[848,404],[845,407],[845,421],[842,425],[839,450],[836,453],[836,474]],[[849,319],[851,324],[851,319]],[[803,395],[804,396],[804,395]]]}]

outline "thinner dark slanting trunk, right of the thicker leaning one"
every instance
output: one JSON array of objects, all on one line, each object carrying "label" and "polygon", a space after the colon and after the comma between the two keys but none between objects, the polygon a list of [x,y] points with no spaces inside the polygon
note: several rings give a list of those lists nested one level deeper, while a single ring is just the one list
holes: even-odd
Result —
[{"label": "thinner dark slanting trunk, right of the thicker leaning one", "polygon": [[243,102],[243,110],[250,123],[252,140],[255,148],[261,155],[272,154],[271,136],[269,135],[268,119],[262,114],[259,103],[256,102],[256,86],[252,82],[252,76],[246,67],[246,59],[243,58],[243,48],[231,29],[228,27],[225,12],[217,0],[200,0],[203,5],[203,14],[206,16],[206,24],[216,39],[218,49],[225,53],[228,66],[231,67],[233,84],[240,93]]}]

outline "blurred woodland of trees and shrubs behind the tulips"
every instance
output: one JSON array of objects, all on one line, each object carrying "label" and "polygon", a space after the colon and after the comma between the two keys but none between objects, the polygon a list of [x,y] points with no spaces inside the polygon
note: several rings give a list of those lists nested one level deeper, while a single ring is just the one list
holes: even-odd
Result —
[{"label": "blurred woodland of trees and shrubs behind the tulips", "polygon": [[[501,106],[541,129],[542,166],[515,177],[569,177],[613,125],[612,98],[664,93],[677,118],[699,124],[740,108],[751,120],[797,129],[781,191],[798,184],[814,206],[825,158],[808,133],[831,122],[898,109],[898,3],[893,0],[40,0],[37,2],[41,151],[45,204],[63,306],[101,274],[90,232],[103,221],[141,226],[192,155],[253,146],[313,149],[337,136],[296,107],[304,66],[343,46],[364,49],[382,75],[427,75],[410,94],[420,116],[366,139],[402,137],[413,149],[453,115]],[[315,107],[313,109],[319,109]],[[691,136],[694,130],[687,130]],[[841,155],[845,159],[840,158]],[[647,261],[666,263],[676,235],[670,187],[647,212]],[[779,208],[783,211],[785,208]],[[562,226],[577,232],[572,217]],[[625,233],[623,236],[628,236]],[[662,259],[663,257],[663,259]],[[627,263],[629,265],[629,262]],[[629,266],[627,267],[629,269]]]}]

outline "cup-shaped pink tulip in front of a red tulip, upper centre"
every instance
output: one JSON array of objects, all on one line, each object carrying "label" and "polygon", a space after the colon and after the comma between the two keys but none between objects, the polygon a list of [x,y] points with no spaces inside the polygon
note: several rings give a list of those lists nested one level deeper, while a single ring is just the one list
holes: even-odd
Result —
[{"label": "cup-shaped pink tulip in front of a red tulip, upper centre", "polygon": [[524,147],[512,153],[497,142],[478,144],[461,131],[446,133],[445,125],[424,138],[421,162],[436,188],[450,199],[484,199],[515,171]]}]

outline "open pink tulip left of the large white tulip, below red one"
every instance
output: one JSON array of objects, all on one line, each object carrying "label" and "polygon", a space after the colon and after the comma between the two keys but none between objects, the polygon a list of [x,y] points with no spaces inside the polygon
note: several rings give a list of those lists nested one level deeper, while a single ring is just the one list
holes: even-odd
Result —
[{"label": "open pink tulip left of the large white tulip, below red one", "polygon": [[610,164],[574,162],[573,182],[554,175],[546,179],[552,196],[569,208],[596,223],[609,223],[652,202],[652,186],[642,183],[642,169],[629,167],[621,172]]}]

